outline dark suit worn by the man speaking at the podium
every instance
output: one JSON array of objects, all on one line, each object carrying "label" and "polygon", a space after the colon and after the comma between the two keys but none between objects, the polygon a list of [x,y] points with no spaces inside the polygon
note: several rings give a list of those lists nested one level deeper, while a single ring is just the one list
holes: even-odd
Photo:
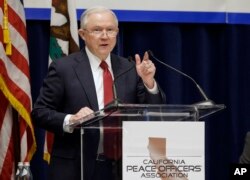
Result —
[{"label": "dark suit worn by the man speaking at the podium", "polygon": [[[134,64],[127,59],[111,54],[114,77]],[[117,96],[123,103],[165,102],[160,90],[157,95],[147,92],[135,68],[116,80]],[[55,134],[51,156],[51,179],[80,179],[80,133],[63,131],[67,114],[75,114],[82,107],[98,110],[90,63],[85,50],[63,57],[49,67],[40,95],[34,105],[34,124]],[[99,142],[99,131],[84,134],[85,179],[91,179]]]}]

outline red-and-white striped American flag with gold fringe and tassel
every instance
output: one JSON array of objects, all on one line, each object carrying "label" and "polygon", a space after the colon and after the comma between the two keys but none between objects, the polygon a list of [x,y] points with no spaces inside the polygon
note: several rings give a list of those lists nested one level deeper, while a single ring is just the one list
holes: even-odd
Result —
[{"label": "red-and-white striped American flag with gold fringe and tassel", "polygon": [[13,179],[17,161],[30,161],[36,151],[31,110],[24,8],[19,0],[0,0],[0,179]]}]

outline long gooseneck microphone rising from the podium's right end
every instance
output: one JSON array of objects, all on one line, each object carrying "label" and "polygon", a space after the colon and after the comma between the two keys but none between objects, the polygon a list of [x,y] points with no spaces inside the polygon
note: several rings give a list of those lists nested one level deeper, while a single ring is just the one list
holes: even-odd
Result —
[{"label": "long gooseneck microphone rising from the podium's right end", "polygon": [[168,64],[166,64],[164,62],[162,62],[161,60],[159,60],[158,58],[156,58],[154,56],[154,54],[153,54],[153,52],[151,50],[148,50],[147,52],[148,52],[149,56],[151,56],[154,60],[156,60],[160,64],[162,64],[165,67],[167,67],[167,68],[169,68],[169,69],[171,69],[171,70],[173,70],[173,71],[181,74],[182,76],[186,77],[187,79],[191,80],[194,83],[194,85],[199,90],[201,96],[205,99],[204,101],[195,103],[195,105],[204,105],[204,106],[205,105],[206,106],[214,105],[214,102],[207,97],[207,95],[205,94],[205,92],[203,91],[203,89],[199,86],[199,84],[191,76],[189,76],[189,75],[185,74],[184,72],[182,72],[182,71],[180,71],[180,70],[178,70],[178,69],[176,69],[176,68],[174,68],[174,67],[172,67],[172,66],[170,66],[170,65],[168,65]]}]

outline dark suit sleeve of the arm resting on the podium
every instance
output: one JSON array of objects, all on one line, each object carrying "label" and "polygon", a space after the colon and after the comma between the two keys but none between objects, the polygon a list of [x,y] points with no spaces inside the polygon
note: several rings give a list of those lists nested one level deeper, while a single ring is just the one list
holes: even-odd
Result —
[{"label": "dark suit sleeve of the arm resting on the podium", "polygon": [[35,125],[54,133],[63,133],[63,121],[66,116],[61,113],[63,91],[62,76],[57,70],[57,63],[53,62],[32,110]]}]

